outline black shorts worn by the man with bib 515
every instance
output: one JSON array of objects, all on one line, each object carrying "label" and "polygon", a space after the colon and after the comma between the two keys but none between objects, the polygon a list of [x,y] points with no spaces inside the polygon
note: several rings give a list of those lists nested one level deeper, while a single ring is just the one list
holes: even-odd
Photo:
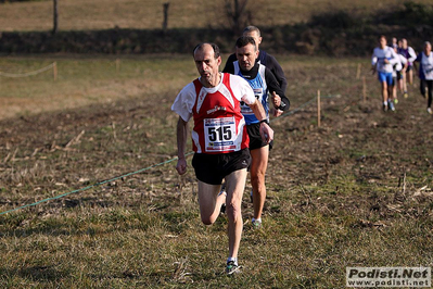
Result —
[{"label": "black shorts worn by the man with bib 515", "polygon": [[199,180],[209,185],[221,185],[222,179],[251,164],[251,155],[247,149],[240,151],[207,154],[195,153],[192,158],[192,166]]}]

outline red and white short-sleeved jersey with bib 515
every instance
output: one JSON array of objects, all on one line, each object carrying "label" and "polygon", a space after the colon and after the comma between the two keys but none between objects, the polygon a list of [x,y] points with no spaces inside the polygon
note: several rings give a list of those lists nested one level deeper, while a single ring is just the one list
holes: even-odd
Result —
[{"label": "red and white short-sleeved jersey with bib 515", "polygon": [[216,87],[204,87],[200,78],[187,85],[171,106],[183,121],[193,117],[191,135],[193,150],[198,153],[228,153],[249,146],[240,101],[253,104],[256,98],[242,77],[220,75]]}]

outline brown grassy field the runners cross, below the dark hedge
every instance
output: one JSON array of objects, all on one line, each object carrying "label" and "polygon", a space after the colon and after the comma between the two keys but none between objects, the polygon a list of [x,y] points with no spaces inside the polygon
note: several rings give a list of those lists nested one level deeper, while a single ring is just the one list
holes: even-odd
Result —
[{"label": "brown grassy field the runners cross, below the dark hedge", "polygon": [[262,230],[245,189],[232,277],[226,216],[201,224],[191,166],[175,171],[169,108],[190,56],[0,59],[59,67],[56,81],[0,78],[0,212],[110,180],[0,215],[0,287],[344,288],[346,266],[432,266],[433,120],[417,85],[383,113],[368,60],[277,58],[293,114],[271,122]]}]

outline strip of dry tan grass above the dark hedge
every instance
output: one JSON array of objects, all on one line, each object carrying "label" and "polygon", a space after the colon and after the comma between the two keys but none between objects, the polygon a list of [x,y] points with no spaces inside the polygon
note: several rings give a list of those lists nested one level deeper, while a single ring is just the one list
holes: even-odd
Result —
[{"label": "strip of dry tan grass above the dark hedge", "polygon": [[[252,24],[272,26],[307,22],[318,12],[344,10],[357,13],[389,11],[406,0],[293,0],[250,1]],[[163,23],[163,3],[156,0],[62,0],[59,1],[60,30],[119,28],[155,29]],[[430,4],[430,0],[413,2]],[[227,25],[224,1],[171,0],[168,28],[203,28]],[[311,9],[314,8],[314,9]],[[1,32],[52,29],[52,1],[0,4]],[[191,16],[193,15],[193,16]]]}]

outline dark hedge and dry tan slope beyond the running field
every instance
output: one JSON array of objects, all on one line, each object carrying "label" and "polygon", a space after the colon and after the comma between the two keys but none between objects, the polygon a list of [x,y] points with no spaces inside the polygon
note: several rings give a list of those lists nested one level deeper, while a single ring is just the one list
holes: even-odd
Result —
[{"label": "dark hedge and dry tan slope beyond the running field", "polygon": [[[171,1],[166,30],[160,1],[66,0],[59,5],[60,32],[53,36],[51,1],[3,4],[0,51],[189,53],[200,39],[230,52],[239,35],[224,1]],[[240,23],[259,26],[264,49],[273,53],[366,55],[380,34],[406,37],[421,49],[433,36],[432,7],[429,1],[250,1]]]}]

